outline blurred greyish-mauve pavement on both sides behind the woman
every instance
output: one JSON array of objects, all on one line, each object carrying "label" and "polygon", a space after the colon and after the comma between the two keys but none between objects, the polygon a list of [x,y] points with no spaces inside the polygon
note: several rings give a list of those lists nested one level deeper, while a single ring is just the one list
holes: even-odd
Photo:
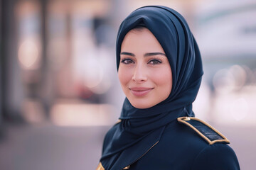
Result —
[{"label": "blurred greyish-mauve pavement on both sides behind the woman", "polygon": [[[240,168],[252,170],[256,158],[256,128],[213,125],[231,141]],[[100,159],[102,140],[109,126],[65,127],[9,125],[0,140],[4,170],[90,170]]]}]

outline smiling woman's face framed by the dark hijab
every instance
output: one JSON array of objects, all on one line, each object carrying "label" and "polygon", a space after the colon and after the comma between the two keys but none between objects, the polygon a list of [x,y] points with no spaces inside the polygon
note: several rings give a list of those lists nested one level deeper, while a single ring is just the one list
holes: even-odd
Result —
[{"label": "smiling woman's face framed by the dark hijab", "polygon": [[147,28],[130,30],[121,45],[118,77],[135,108],[150,108],[171,93],[169,61],[159,41]]}]

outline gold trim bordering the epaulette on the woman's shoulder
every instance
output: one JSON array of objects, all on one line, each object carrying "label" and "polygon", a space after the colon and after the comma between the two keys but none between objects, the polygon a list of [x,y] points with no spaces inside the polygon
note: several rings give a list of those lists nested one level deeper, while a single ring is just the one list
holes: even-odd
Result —
[{"label": "gold trim bordering the epaulette on the woman's shoulder", "polygon": [[[221,137],[223,137],[223,140],[209,140],[208,137],[206,137],[205,135],[203,135],[199,130],[197,130],[195,127],[193,127],[193,125],[191,125],[190,123],[186,122],[189,121],[189,119],[192,120],[197,120],[198,122],[203,123],[204,125],[208,126],[209,128],[211,128],[214,132],[216,132],[218,135],[220,135]],[[193,118],[193,117],[181,117],[181,118],[177,118],[178,122],[184,123],[186,125],[188,125],[189,127],[191,127],[193,130],[195,130],[201,137],[203,137],[204,140],[206,140],[210,145],[213,145],[215,142],[227,142],[230,143],[230,141],[227,139],[227,137],[225,137],[223,134],[221,134],[218,130],[216,130],[215,128],[213,128],[211,125],[209,125],[208,123],[204,122],[203,120],[200,120],[198,118]]]}]

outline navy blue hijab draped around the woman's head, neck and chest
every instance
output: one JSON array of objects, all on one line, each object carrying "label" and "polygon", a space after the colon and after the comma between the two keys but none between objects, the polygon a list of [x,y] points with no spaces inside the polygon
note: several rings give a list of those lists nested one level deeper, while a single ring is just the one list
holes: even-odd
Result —
[{"label": "navy blue hijab draped around the woman's head, neck and chest", "polygon": [[124,36],[143,24],[163,47],[171,65],[173,85],[166,100],[151,108],[134,108],[125,98],[121,123],[105,137],[100,162],[105,169],[122,169],[161,140],[166,125],[180,116],[194,116],[192,103],[201,84],[203,67],[196,40],[181,14],[166,6],[144,6],[124,19],[117,33],[117,69]]}]

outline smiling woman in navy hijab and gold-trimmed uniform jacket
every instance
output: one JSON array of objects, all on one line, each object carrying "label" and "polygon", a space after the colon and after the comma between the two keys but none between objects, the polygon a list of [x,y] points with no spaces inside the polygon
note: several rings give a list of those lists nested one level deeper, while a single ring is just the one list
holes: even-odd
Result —
[{"label": "smiling woman in navy hijab and gold-trimmed uniform jacket", "polygon": [[117,35],[124,94],[119,123],[105,136],[97,169],[240,169],[229,141],[194,117],[203,68],[185,19],[165,6],[144,6]]}]

